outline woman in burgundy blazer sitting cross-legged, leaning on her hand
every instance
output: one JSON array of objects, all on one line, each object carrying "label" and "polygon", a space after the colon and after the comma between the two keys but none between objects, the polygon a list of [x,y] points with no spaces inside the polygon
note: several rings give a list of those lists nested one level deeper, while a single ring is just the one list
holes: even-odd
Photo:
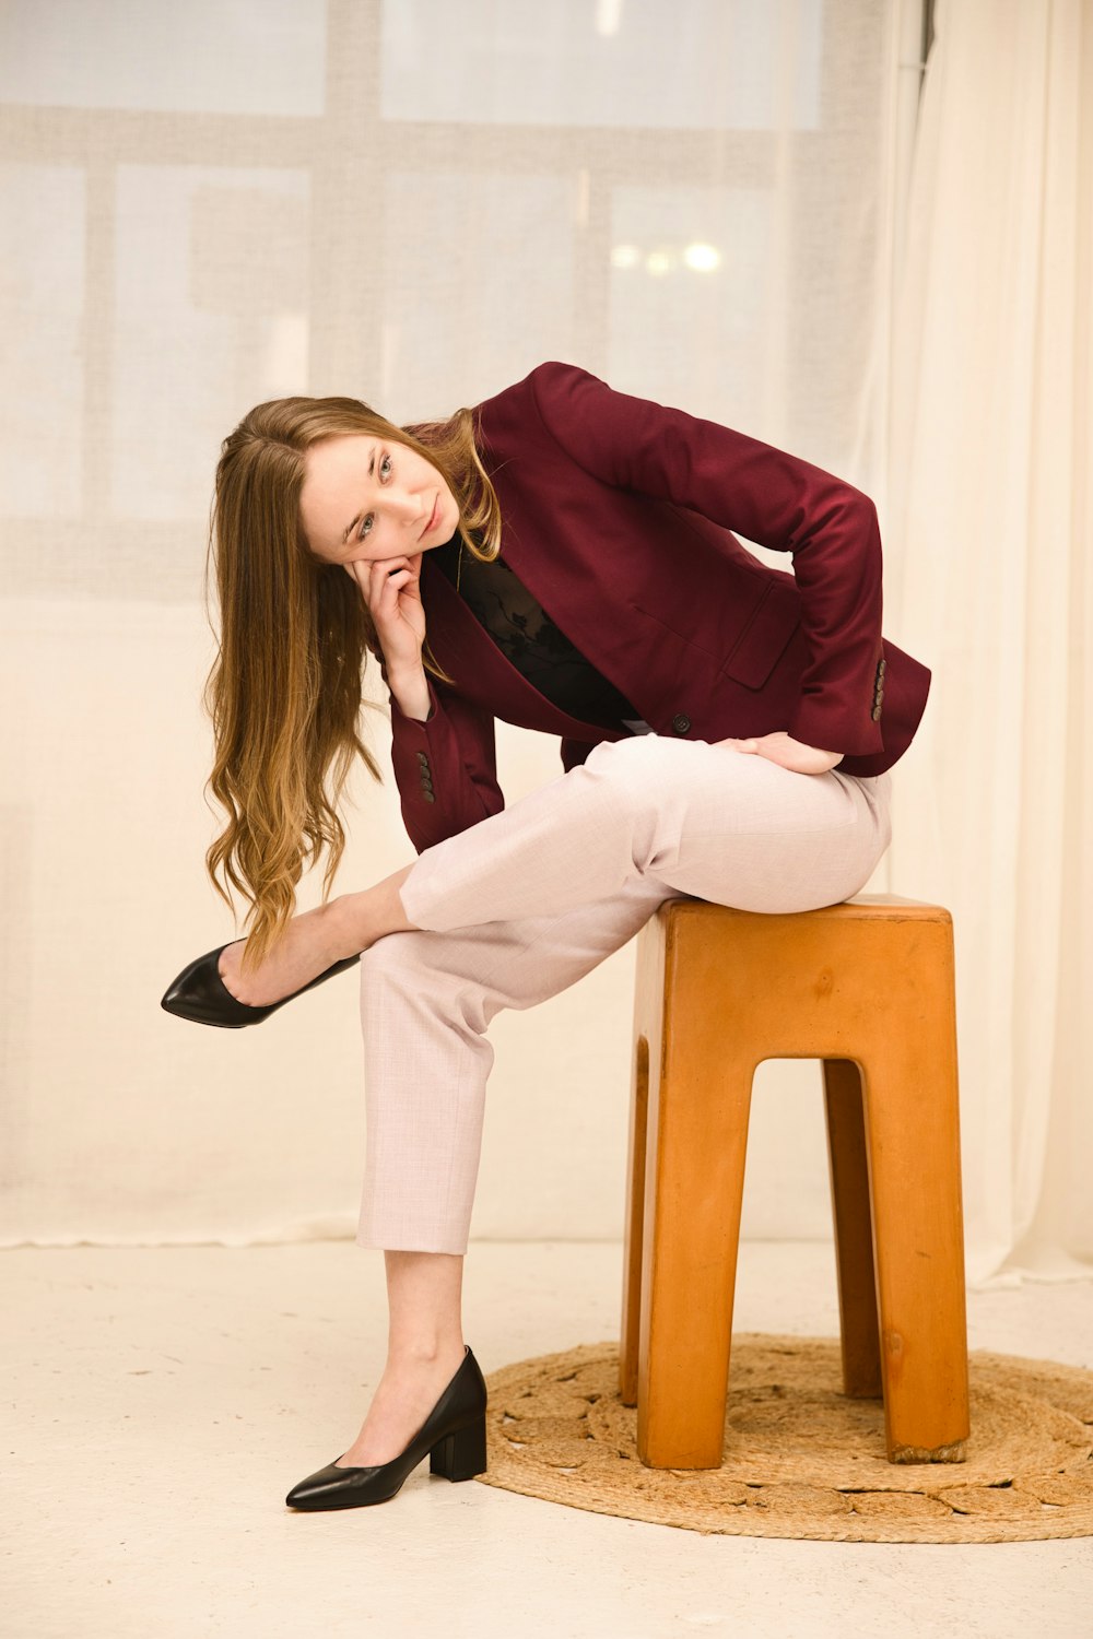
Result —
[{"label": "woman in burgundy blazer sitting cross-legged, leaning on her hand", "polygon": [[[259,1023],[361,960],[357,1242],[385,1252],[388,1359],[354,1444],[287,1498],[351,1508],[426,1452],[449,1478],[485,1469],[460,1283],[493,1015],[575,983],[664,900],[859,892],[929,672],[882,638],[865,495],[567,364],[411,428],[356,400],[259,405],[224,441],[215,541],[210,783],[231,820],[208,869],[252,929],[164,1006]],[[365,647],[418,859],[328,900],[352,757],[380,777],[357,738]],[[562,742],[559,779],[510,808],[497,718]],[[324,901],[293,918],[323,844]]]}]

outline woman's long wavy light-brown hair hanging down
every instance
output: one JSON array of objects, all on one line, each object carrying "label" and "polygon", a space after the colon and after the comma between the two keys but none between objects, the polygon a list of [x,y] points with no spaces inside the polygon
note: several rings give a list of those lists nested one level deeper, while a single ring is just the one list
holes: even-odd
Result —
[{"label": "woman's long wavy light-brown hair hanging down", "polygon": [[[361,587],[341,564],[315,557],[300,521],[305,456],[326,438],[367,433],[405,444],[441,474],[459,505],[469,552],[501,549],[497,492],[477,449],[474,410],[400,428],[357,398],[275,398],[256,405],[231,433],[216,465],[205,562],[220,600],[218,651],[202,703],[213,723],[215,760],[205,785],[228,815],[205,864],[233,910],[249,901],[243,970],[257,967],[285,933],[305,865],[328,849],[326,903],[346,833],[342,788],[361,757],[379,764],[359,736],[364,667],[383,652]],[[452,679],[423,646],[423,665]],[[223,885],[221,879],[223,877]]]}]

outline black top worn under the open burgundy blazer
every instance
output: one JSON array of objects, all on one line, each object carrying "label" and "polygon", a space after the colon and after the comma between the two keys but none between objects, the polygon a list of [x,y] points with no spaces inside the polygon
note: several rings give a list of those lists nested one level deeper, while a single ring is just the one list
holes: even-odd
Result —
[{"label": "black top worn under the open burgundy blazer", "polygon": [[503,557],[483,564],[459,536],[434,547],[436,562],[501,654],[556,706],[598,728],[649,734],[636,708],[560,631]]}]

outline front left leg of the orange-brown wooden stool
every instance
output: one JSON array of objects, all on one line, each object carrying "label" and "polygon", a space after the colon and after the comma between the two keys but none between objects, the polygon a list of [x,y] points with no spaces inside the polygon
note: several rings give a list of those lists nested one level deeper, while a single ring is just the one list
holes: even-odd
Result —
[{"label": "front left leg of the orange-brown wooden stool", "polygon": [[[649,1077],[637,1455],[719,1469],[754,1064],[695,1010]],[[665,1026],[665,1037],[669,1028]]]}]

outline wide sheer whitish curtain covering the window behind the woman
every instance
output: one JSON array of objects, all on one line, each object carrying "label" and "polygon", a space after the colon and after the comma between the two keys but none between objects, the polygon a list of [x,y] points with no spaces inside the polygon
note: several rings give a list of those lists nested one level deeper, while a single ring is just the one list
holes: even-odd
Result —
[{"label": "wide sheer whitish curtain covering the window behind the woman", "polygon": [[[159,1010],[236,933],[203,870],[220,439],[279,393],[411,420],[560,357],[880,495],[919,28],[903,0],[0,8],[5,1241],[356,1224],[352,978],[241,1033]],[[932,597],[911,556],[887,631],[947,665],[903,618],[905,577]],[[1034,793],[1044,756],[1013,747]],[[505,728],[500,760],[510,800],[560,774]],[[413,857],[390,772],[352,800],[339,888]],[[960,883],[901,854],[891,887]],[[633,947],[495,1021],[474,1234],[621,1236],[631,977]],[[826,1234],[816,1067],[760,1083],[746,1223]]]}]

